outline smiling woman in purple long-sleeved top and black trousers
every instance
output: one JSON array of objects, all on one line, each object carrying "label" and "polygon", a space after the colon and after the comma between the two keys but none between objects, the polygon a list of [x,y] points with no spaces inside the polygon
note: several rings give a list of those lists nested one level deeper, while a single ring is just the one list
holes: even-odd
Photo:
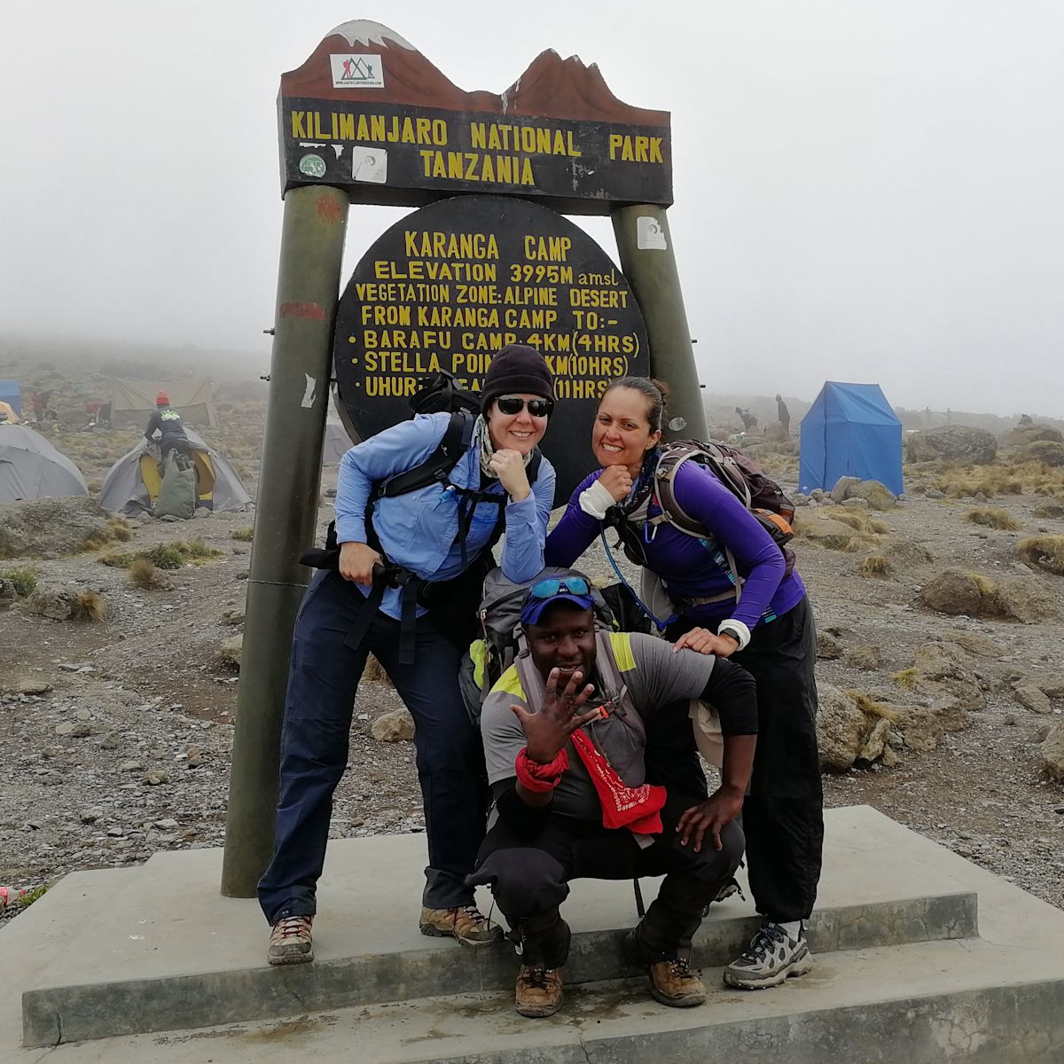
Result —
[{"label": "smiling woman in purple long-sleeved top and black trousers", "polygon": [[[662,513],[653,473],[664,409],[664,392],[654,381],[626,377],[610,386],[592,431],[592,449],[603,468],[572,493],[547,538],[545,560],[571,566],[603,528],[617,527],[629,555],[661,578],[676,605],[678,616],[665,635],[677,649],[731,658],[757,680],[758,748],[743,828],[750,890],[763,924],[725,969],[725,982],[776,986],[812,967],[804,921],[816,900],[824,844],[813,613],[801,578],[786,571],[780,548],[704,466],[680,466],[675,493],[679,505],[704,526],[705,537],[668,521],[652,523]],[[737,572],[730,569],[728,552]],[[704,788],[686,712],[678,704],[667,726],[660,720],[659,742],[648,735],[647,775],[654,766],[655,782],[689,789],[694,770]]]}]

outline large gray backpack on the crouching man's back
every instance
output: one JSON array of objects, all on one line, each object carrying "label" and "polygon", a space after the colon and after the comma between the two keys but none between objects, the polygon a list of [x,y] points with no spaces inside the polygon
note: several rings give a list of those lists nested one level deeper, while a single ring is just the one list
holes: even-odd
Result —
[{"label": "large gray backpack on the crouching man's back", "polygon": [[462,656],[459,671],[459,685],[465,699],[466,710],[473,724],[480,721],[480,709],[487,693],[495,686],[499,677],[510,668],[517,656],[520,637],[521,606],[529,588],[541,580],[551,577],[583,577],[592,589],[595,599],[595,618],[597,627],[611,631],[614,627],[613,613],[602,598],[601,592],[582,572],[566,569],[556,565],[548,565],[537,572],[532,580],[514,583],[508,580],[501,568],[494,568],[484,578],[484,591],[481,595],[480,638],[476,639],[469,650]]}]

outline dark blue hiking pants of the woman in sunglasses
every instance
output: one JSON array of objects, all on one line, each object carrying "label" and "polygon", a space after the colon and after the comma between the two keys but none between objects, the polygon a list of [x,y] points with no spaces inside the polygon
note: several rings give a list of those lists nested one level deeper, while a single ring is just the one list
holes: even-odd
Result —
[{"label": "dark blue hiking pants of the woman in sunglasses", "polygon": [[[346,647],[365,604],[353,584],[322,570],[299,608],[281,737],[273,860],[259,883],[259,901],[270,924],[317,911],[332,795],[347,766],[354,695],[370,652],[414,717],[429,843],[422,903],[430,909],[472,903],[472,887],[464,881],[484,837],[488,792],[480,735],[459,691],[461,651],[422,617],[414,664],[400,666],[399,621],[380,611],[359,647]],[[396,884],[398,892],[405,887]]]}]

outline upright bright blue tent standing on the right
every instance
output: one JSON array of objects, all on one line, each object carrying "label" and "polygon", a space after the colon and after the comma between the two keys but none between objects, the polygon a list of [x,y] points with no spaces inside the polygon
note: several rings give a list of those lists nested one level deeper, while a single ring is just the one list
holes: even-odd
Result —
[{"label": "upright bright blue tent standing on the right", "polygon": [[904,491],[901,422],[878,384],[826,381],[802,418],[798,491],[831,491],[839,477]]}]

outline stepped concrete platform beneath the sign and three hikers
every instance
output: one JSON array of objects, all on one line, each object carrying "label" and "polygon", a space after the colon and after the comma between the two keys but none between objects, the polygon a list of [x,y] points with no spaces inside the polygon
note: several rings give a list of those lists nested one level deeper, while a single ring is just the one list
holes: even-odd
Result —
[{"label": "stepped concrete platform beneath the sign and three hikers", "polygon": [[[0,1060],[49,1052],[17,1049],[24,1034],[26,1046],[56,1046],[51,1054],[71,1064],[268,1061],[280,1047],[286,1060],[297,1051],[381,1064],[662,1053],[767,1061],[784,1048],[796,1062],[829,1052],[907,1064],[1064,1061],[1064,913],[866,807],[828,815],[814,972],[737,994],[709,970],[714,994],[689,1011],[649,1001],[642,981],[617,981],[630,975],[618,937],[635,920],[631,887],[586,883],[566,903],[577,932],[567,1008],[550,1020],[516,1016],[509,949],[472,951],[418,934],[423,845],[419,835],[333,844],[318,960],[289,969],[263,963],[257,905],[218,896],[219,851],[67,877],[0,932],[2,968],[19,974],[24,992],[21,1015],[17,995],[0,999]],[[654,881],[644,885],[649,900]],[[718,968],[749,933],[752,908],[730,899],[706,924],[698,960]],[[305,1015],[330,1010],[344,1011]],[[282,1016],[304,1018],[114,1036]],[[104,1041],[59,1044],[84,1038]]]}]

